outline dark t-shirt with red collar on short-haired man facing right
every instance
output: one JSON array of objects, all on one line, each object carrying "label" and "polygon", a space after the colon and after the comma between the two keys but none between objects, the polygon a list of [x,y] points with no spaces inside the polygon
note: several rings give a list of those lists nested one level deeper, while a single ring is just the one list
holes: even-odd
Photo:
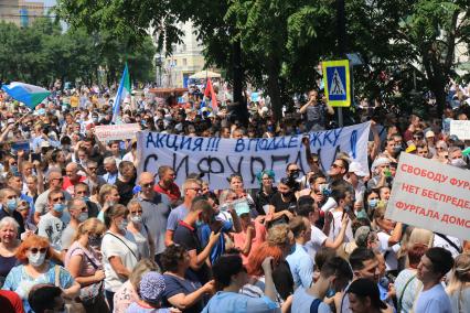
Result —
[{"label": "dark t-shirt with red collar on short-haired man facing right", "polygon": [[[178,223],[177,229],[174,229],[173,242],[183,246],[188,251],[196,250],[197,255],[203,250],[201,240],[197,237],[197,229],[182,220]],[[195,273],[201,284],[206,283],[212,276],[205,262],[199,270],[189,269],[188,271]]]}]

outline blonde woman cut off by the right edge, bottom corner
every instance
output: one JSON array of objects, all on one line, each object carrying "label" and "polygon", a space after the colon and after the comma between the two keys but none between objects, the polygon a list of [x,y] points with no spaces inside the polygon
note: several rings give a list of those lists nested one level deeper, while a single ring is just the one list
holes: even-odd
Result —
[{"label": "blonde woman cut off by the right edge, bottom corner", "polygon": [[470,307],[470,253],[456,258],[452,274],[447,287],[452,312],[468,312]]}]

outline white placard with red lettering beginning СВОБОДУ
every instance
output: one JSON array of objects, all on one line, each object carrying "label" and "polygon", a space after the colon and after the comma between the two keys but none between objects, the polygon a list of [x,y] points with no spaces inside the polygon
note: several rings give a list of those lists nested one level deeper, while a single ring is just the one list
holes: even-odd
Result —
[{"label": "white placard with red lettering beginning \u0421\u0412\u041e\u0411\u041e\u0414\u0423", "polygon": [[470,171],[402,153],[385,217],[470,239]]}]

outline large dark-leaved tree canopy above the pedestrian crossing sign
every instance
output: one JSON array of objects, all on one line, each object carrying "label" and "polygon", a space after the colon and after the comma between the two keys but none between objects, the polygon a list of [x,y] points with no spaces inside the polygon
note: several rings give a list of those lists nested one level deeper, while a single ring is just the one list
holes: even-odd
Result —
[{"label": "large dark-leaved tree canopy above the pedestrian crossing sign", "polygon": [[[355,94],[407,106],[416,90],[430,90],[441,111],[456,44],[470,43],[470,2],[344,2],[346,52],[364,61],[354,68]],[[180,40],[178,22],[191,20],[206,61],[266,89],[277,117],[292,95],[316,86],[319,62],[345,57],[338,53],[331,0],[60,0],[58,12],[72,25],[133,43],[151,28],[169,53]]]}]

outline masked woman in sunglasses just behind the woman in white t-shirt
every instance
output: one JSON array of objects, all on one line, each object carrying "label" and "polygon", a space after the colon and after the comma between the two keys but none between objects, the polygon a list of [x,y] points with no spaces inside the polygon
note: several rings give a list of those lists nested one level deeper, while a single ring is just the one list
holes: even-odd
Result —
[{"label": "masked woman in sunglasses just behind the woman in white t-shirt", "polygon": [[154,256],[156,246],[150,235],[149,228],[142,220],[142,206],[138,201],[130,201],[127,205],[129,209],[129,225],[127,230],[133,236],[141,258]]}]

